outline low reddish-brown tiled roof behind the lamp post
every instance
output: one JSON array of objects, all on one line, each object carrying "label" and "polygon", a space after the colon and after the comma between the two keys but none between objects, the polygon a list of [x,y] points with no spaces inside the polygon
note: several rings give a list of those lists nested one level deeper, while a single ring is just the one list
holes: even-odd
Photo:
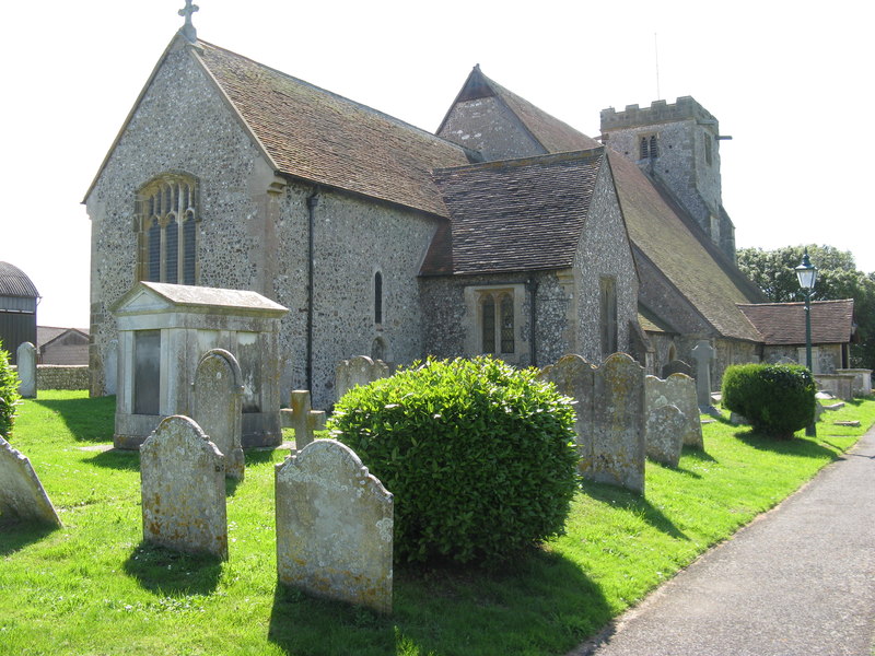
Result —
[{"label": "low reddish-brown tiled roof behind the lamp post", "polygon": [[[804,303],[739,304],[738,308],[762,333],[767,344],[805,343]],[[854,331],[854,301],[812,302],[812,343],[842,344]]]}]

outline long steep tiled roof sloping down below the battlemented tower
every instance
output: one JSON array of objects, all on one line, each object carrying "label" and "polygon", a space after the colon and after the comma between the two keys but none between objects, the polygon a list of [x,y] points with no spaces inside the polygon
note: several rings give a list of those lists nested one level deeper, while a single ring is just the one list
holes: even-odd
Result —
[{"label": "long steep tiled roof sloping down below the battlemented tower", "polygon": [[705,247],[641,169],[608,150],[629,237],[721,335],[760,341],[736,304],[758,301],[737,269]]}]

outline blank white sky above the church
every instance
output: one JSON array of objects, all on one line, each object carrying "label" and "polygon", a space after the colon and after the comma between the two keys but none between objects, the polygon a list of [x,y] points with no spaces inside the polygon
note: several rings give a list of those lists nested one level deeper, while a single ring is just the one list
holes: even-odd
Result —
[{"label": "blank white sky above the church", "polygon": [[[875,271],[871,1],[197,3],[200,38],[430,131],[478,62],[592,137],[605,107],[691,95],[734,138],[723,204],[739,247],[829,244]],[[183,5],[0,9],[0,261],[36,284],[40,325],[88,327],[81,201]]]}]

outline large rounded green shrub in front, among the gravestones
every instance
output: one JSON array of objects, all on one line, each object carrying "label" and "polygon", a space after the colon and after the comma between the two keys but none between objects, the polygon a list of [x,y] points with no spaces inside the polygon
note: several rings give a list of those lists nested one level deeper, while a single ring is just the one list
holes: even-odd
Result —
[{"label": "large rounded green shrub in front, among the gravestones", "polygon": [[563,530],[571,399],[489,358],[417,363],[349,391],[329,422],[395,494],[395,559],[498,562]]}]

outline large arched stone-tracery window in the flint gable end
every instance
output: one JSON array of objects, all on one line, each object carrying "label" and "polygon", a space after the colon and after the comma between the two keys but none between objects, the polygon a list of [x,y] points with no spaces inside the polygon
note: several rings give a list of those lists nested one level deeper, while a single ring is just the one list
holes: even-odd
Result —
[{"label": "large arched stone-tracery window in the flint gable end", "polygon": [[161,175],[137,194],[138,280],[197,284],[197,180]]}]

